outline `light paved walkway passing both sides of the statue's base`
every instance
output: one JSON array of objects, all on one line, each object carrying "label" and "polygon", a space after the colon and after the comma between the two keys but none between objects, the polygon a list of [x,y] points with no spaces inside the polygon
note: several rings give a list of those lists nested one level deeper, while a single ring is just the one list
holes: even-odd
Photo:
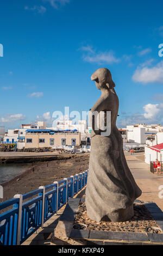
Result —
[{"label": "light paved walkway passing both sides of the statue's base", "polygon": [[[133,174],[137,185],[142,190],[142,195],[139,197],[142,201],[152,201],[158,204],[163,211],[163,198],[159,198],[159,186],[163,185],[163,173],[153,174],[149,170],[149,164],[141,160],[143,154],[130,155],[126,153],[128,166]],[[162,186],[163,188],[163,186]],[[163,189],[162,189],[163,190]],[[82,197],[84,190],[78,194],[77,197]],[[163,192],[162,192],[163,195]],[[65,206],[59,210],[58,215],[54,215],[47,222],[45,222],[43,229],[38,229],[35,234],[30,236],[22,245],[54,245],[51,244],[51,234],[57,226],[58,220]],[[55,245],[76,244],[75,241],[67,243],[65,241],[56,240]]]}]

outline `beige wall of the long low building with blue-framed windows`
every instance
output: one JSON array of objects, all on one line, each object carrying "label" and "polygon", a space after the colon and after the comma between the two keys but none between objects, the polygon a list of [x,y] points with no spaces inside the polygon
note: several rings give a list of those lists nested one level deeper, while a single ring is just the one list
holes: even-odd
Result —
[{"label": "beige wall of the long low building with blue-framed windows", "polygon": [[[27,139],[32,139],[32,143],[27,143]],[[45,139],[45,143],[39,143],[39,139]],[[50,144],[50,139],[54,139],[54,145]],[[66,139],[66,145],[72,145],[71,139],[76,139],[76,145],[81,144],[80,133],[60,133],[60,134],[26,134],[25,148],[44,148],[44,147],[60,147],[62,139]]]}]

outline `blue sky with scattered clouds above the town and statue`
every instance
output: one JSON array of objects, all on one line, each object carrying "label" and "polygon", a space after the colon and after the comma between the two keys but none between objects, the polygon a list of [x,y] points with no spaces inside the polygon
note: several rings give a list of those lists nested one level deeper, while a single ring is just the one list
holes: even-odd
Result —
[{"label": "blue sky with scattered clouds above the town and statue", "polygon": [[117,126],[163,124],[163,3],[130,0],[1,1],[0,126],[45,120],[101,95],[90,77],[108,68]]}]

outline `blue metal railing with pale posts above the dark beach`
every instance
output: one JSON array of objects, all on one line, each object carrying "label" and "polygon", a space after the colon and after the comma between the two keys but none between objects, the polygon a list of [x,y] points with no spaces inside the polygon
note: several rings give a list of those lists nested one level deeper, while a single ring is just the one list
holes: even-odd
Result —
[{"label": "blue metal railing with pale posts above the dark beach", "polygon": [[[20,245],[87,184],[88,170],[0,204],[0,245]],[[30,199],[29,199],[30,198]],[[26,202],[23,202],[26,200]]]}]

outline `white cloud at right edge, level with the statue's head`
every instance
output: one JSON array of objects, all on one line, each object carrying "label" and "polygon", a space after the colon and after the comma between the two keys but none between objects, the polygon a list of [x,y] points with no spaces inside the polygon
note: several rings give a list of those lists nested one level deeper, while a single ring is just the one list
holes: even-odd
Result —
[{"label": "white cloud at right edge, level with the statue's head", "polygon": [[136,69],[133,77],[134,82],[142,83],[163,83],[163,61],[159,62],[156,66],[148,68],[147,66]]}]

